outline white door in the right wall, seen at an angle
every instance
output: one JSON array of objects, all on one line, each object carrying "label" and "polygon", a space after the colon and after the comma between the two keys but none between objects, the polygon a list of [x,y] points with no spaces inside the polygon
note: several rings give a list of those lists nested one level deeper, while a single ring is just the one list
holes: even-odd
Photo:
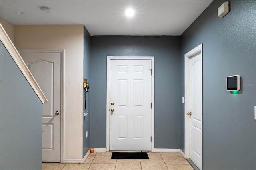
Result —
[{"label": "white door in the right wall, seen at an angle", "polygon": [[202,168],[202,53],[190,59],[190,159]]}]

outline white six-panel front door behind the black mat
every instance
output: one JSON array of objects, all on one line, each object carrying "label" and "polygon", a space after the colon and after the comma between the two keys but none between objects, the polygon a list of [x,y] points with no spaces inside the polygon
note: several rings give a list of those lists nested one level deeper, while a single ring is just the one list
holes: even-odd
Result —
[{"label": "white six-panel front door behind the black mat", "polygon": [[110,60],[110,150],[151,150],[151,60]]}]

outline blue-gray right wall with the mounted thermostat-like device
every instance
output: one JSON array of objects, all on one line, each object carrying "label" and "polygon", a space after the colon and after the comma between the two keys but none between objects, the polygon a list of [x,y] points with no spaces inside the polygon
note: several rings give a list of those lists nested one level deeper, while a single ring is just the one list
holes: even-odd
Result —
[{"label": "blue-gray right wall with the mounted thermostat-like device", "polygon": [[[182,34],[184,54],[203,43],[203,169],[256,169],[256,1],[230,1],[230,12],[218,18],[225,1],[214,1]],[[226,77],[240,75],[239,94],[226,91]],[[185,99],[186,100],[186,99]],[[181,148],[184,151],[184,105]]]}]

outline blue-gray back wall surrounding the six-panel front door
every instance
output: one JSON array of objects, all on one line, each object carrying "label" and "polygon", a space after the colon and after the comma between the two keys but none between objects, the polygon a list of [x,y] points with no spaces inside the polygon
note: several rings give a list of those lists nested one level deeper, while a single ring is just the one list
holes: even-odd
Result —
[{"label": "blue-gray back wall surrounding the six-panel front door", "polygon": [[180,36],[92,36],[91,147],[106,148],[107,56],[155,57],[155,148],[180,148]]}]

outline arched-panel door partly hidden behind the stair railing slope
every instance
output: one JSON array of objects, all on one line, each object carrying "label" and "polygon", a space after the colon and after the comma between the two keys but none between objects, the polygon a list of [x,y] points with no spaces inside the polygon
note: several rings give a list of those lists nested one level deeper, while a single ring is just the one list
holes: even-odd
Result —
[{"label": "arched-panel door partly hidden behind the stair railing slope", "polygon": [[48,103],[42,113],[42,162],[60,162],[61,53],[20,53]]}]

